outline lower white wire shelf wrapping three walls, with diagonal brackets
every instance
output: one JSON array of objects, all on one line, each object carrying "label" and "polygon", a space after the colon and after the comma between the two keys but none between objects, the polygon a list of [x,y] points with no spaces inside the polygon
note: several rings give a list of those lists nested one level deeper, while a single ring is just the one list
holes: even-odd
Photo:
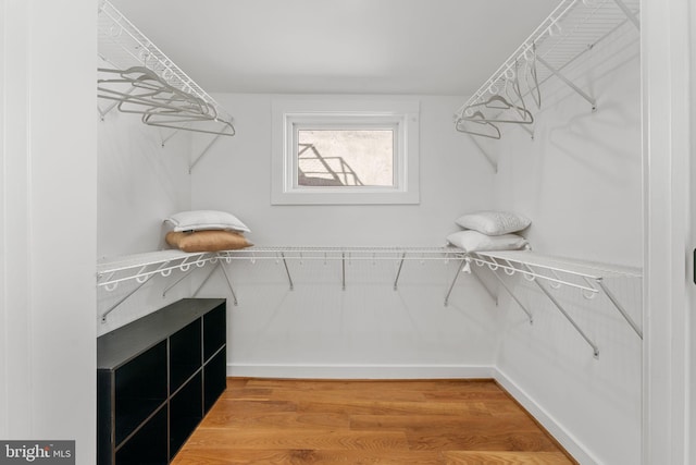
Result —
[{"label": "lower white wire shelf wrapping three walls, with diagonal brackets", "polygon": [[[352,261],[382,261],[389,260],[398,264],[394,279],[394,290],[398,290],[399,277],[403,264],[407,260],[439,260],[456,261],[457,271],[445,296],[444,305],[447,306],[455,284],[461,272],[471,273],[486,287],[486,284],[475,272],[476,267],[488,269],[497,279],[500,286],[510,294],[517,304],[526,314],[530,323],[533,323],[532,313],[515,295],[514,291],[506,283],[505,276],[521,276],[525,280],[535,283],[539,290],[551,301],[559,311],[570,321],[573,328],[593,348],[595,357],[599,356],[599,348],[587,333],[575,322],[563,305],[554,296],[552,290],[568,286],[577,290],[591,301],[598,295],[605,295],[625,321],[643,339],[641,327],[634,321],[630,313],[619,302],[613,292],[606,284],[608,278],[634,278],[642,279],[642,272],[637,268],[619,267],[606,264],[595,264],[563,259],[533,253],[529,250],[497,250],[467,253],[458,247],[298,247],[298,246],[272,246],[248,247],[238,250],[221,250],[214,253],[184,253],[179,250],[160,250],[146,254],[119,257],[116,259],[102,260],[97,266],[97,286],[107,292],[112,292],[125,282],[135,281],[136,285],[108,308],[102,315],[102,321],[107,316],[121,305],[126,298],[142,287],[150,279],[161,276],[167,278],[173,271],[179,271],[181,276],[163,292],[163,295],[182,282],[192,271],[215,265],[208,276],[199,284],[198,290],[210,279],[215,270],[221,269],[226,279],[233,302],[237,305],[237,297],[232,285],[232,280],[224,265],[239,260],[248,260],[254,264],[257,260],[275,260],[284,266],[290,290],[295,284],[288,267],[289,260],[303,261],[339,261],[341,266],[341,286],[346,289],[346,265]],[[548,287],[547,287],[548,286]],[[550,287],[550,290],[549,290]],[[196,295],[198,290],[194,293]],[[494,297],[494,293],[486,287]]]}]

